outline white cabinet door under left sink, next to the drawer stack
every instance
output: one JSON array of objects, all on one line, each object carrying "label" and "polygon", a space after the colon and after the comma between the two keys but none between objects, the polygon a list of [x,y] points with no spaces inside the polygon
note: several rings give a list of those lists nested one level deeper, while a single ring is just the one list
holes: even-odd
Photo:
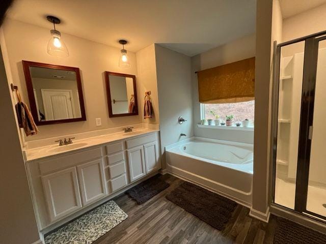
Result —
[{"label": "white cabinet door under left sink, next to the drawer stack", "polygon": [[77,170],[84,206],[106,195],[102,159],[79,165]]}]

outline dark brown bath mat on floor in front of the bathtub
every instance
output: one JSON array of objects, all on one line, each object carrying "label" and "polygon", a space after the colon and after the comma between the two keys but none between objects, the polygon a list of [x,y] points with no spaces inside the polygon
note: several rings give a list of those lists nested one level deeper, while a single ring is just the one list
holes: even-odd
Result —
[{"label": "dark brown bath mat on floor in front of the bathtub", "polygon": [[220,231],[237,206],[236,202],[187,181],[167,195],[167,199]]}]

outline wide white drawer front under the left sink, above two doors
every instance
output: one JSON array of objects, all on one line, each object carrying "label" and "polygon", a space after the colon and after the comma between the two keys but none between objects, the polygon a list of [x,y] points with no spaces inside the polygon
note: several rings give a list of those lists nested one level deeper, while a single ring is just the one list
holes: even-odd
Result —
[{"label": "wide white drawer front under the left sink, above two doors", "polygon": [[39,163],[41,175],[52,171],[57,171],[70,166],[93,161],[102,157],[102,148],[96,147],[90,150],[84,150],[80,153],[74,153],[63,157],[50,159]]}]

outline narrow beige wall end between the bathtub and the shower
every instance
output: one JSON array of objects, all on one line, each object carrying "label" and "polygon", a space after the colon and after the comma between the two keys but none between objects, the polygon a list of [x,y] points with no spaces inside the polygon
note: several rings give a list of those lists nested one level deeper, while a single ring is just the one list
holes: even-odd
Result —
[{"label": "narrow beige wall end between the bathtub and the shower", "polygon": [[[252,208],[264,215],[269,205],[269,146],[273,41],[280,35],[273,0],[258,0],[256,10],[255,133]],[[275,6],[276,7],[276,6]],[[278,7],[276,9],[279,9]],[[280,10],[280,9],[279,9]],[[273,27],[272,27],[273,19]],[[273,31],[272,31],[273,28]],[[271,36],[273,33],[273,37]],[[262,218],[265,218],[261,216]]]}]

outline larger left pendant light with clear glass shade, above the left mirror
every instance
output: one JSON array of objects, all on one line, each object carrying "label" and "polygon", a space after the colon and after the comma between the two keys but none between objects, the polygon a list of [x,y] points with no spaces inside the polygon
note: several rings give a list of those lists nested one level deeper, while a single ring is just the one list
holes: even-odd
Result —
[{"label": "larger left pendant light with clear glass shade, above the left mirror", "polygon": [[66,44],[61,39],[61,33],[56,30],[56,24],[60,24],[61,20],[55,16],[46,16],[46,19],[53,23],[54,29],[51,29],[51,38],[47,43],[47,53],[57,57],[68,57],[69,52]]}]

